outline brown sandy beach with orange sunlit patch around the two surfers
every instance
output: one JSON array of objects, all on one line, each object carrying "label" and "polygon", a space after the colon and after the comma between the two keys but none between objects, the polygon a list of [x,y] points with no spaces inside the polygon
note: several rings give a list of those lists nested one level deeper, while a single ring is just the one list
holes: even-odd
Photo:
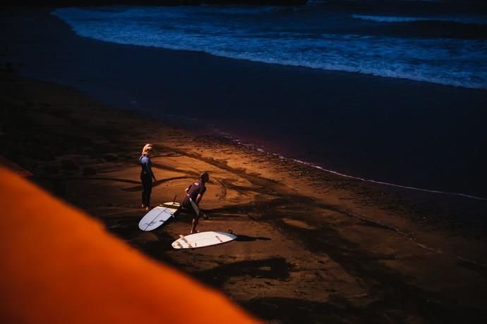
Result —
[{"label": "brown sandy beach with orange sunlit patch around the two surfers", "polygon": [[[35,184],[112,235],[269,323],[484,323],[487,201],[387,187],[196,136],[2,62],[0,148]],[[152,143],[152,203],[210,173],[199,230],[236,242],[179,251],[180,215],[142,232],[138,156]],[[1,161],[1,160],[0,160]],[[39,230],[42,230],[40,228]],[[69,228],[66,228],[68,231]],[[87,233],[89,235],[89,233]]]}]

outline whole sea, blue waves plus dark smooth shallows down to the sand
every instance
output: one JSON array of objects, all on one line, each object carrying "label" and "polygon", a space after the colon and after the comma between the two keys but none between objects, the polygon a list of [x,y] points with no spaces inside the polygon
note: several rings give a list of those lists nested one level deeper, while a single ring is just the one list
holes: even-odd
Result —
[{"label": "whole sea, blue waves plus dark smooth shallows down to the sand", "polygon": [[[121,71],[115,78],[104,75],[109,82],[81,77],[80,71],[72,73],[79,74],[77,81],[66,81],[71,76],[64,75],[64,82],[75,86],[90,80],[85,89],[96,87],[92,94],[120,94],[120,100],[134,109],[157,112],[183,125],[208,125],[241,144],[345,177],[487,198],[487,113],[479,104],[483,100],[479,98],[487,102],[487,15],[483,13],[331,10],[320,1],[310,1],[308,6],[296,7],[59,8],[53,14],[78,35],[102,42],[445,85],[438,89],[417,82],[405,88],[414,89],[411,94],[392,83],[378,88],[395,95],[378,93],[370,86],[354,89],[363,85],[360,82],[327,91],[329,74],[321,77],[291,69],[294,72],[279,72],[287,79],[275,80],[252,70],[239,80],[219,70],[205,76],[208,70],[198,67],[194,80],[179,80],[175,75],[174,86],[167,91],[157,85],[157,76],[145,80],[130,70],[127,73],[137,77],[131,87],[137,89],[125,91],[128,82]],[[269,88],[255,89],[254,77]],[[459,96],[456,89],[462,91]],[[431,96],[426,92],[430,90]],[[452,93],[447,100],[442,98],[445,92]],[[469,99],[467,92],[476,99]],[[195,104],[189,96],[200,101]]]}]

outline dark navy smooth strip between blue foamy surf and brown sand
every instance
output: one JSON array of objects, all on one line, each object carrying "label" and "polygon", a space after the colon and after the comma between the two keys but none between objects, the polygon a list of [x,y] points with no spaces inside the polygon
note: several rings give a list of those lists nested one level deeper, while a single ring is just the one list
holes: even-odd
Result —
[{"label": "dark navy smooth strip between blue foamy surf and brown sand", "polygon": [[[471,144],[469,139],[481,140],[485,135],[481,118],[471,117],[482,116],[481,107],[487,101],[485,90],[105,43],[74,35],[64,22],[52,15],[44,15],[44,18],[42,14],[37,15],[49,30],[56,30],[58,37],[47,39],[50,44],[47,47],[52,49],[44,56],[17,52],[16,58],[25,63],[20,72],[28,77],[64,83],[106,104],[157,118],[167,119],[168,114],[173,114],[196,118],[200,120],[197,124],[203,120],[220,123],[227,127],[223,131],[236,131],[236,137],[244,142],[263,144],[267,151],[339,173],[410,187],[479,197],[487,195],[483,187],[484,179],[487,180],[487,173],[483,171],[487,155],[476,154],[479,158],[470,158],[468,167],[462,158],[472,151],[482,151],[479,142]],[[22,28],[28,30],[28,26],[18,28],[20,38],[28,37],[22,35],[27,32]],[[72,49],[64,49],[65,46]],[[25,49],[29,48],[36,50],[32,45]],[[56,55],[61,62],[53,66],[51,60]],[[93,59],[90,56],[94,56]],[[305,103],[303,98],[306,98]],[[296,107],[301,116],[291,113]],[[326,111],[322,107],[326,107]],[[460,107],[467,111],[459,114]],[[233,116],[227,116],[229,111]],[[258,120],[249,117],[255,112],[263,115]],[[227,119],[220,120],[220,116],[227,116]],[[275,116],[282,116],[282,120],[276,120]],[[437,116],[438,125],[428,124]],[[300,120],[299,125],[306,125],[306,118],[324,121],[323,125],[311,125],[303,133],[302,129],[293,128],[290,122],[293,118]],[[293,138],[286,139],[287,131],[267,127],[272,120],[290,127]],[[465,124],[459,130],[452,124],[457,120],[459,125]],[[374,123],[380,125],[379,128]],[[409,124],[419,128],[409,130]],[[252,125],[252,131],[242,125]],[[442,137],[449,137],[427,142],[428,137],[435,134],[429,130],[431,127],[437,127]],[[458,136],[446,131],[447,127],[454,127]],[[253,130],[259,130],[258,135]],[[320,134],[323,130],[325,134],[320,135],[320,140],[330,141],[326,154],[317,144],[302,147],[301,143],[308,142],[309,134]],[[334,134],[339,130],[343,132],[337,137]],[[421,137],[426,139],[425,147],[411,146],[422,141]],[[357,144],[357,141],[362,143]],[[487,147],[487,143],[484,146]],[[342,147],[351,147],[351,151],[344,151]],[[434,154],[438,157],[432,159]],[[386,159],[395,164],[380,162]],[[404,161],[400,161],[402,159]],[[361,161],[360,167],[353,161]],[[460,166],[458,170],[457,165]],[[469,173],[479,179],[465,181],[474,178]]]}]

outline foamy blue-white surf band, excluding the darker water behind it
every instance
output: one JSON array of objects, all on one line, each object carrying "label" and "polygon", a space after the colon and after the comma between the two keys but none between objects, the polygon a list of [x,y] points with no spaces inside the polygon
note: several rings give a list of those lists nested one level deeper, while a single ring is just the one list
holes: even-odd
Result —
[{"label": "foamy blue-white surf band, excluding the darker water behind it", "polygon": [[[487,89],[485,41],[330,34],[320,32],[325,27],[287,28],[279,26],[279,22],[268,26],[242,15],[275,8],[61,8],[54,15],[66,20],[79,35],[105,42]],[[228,14],[237,14],[238,19],[226,18]],[[385,21],[423,19],[354,17]]]}]

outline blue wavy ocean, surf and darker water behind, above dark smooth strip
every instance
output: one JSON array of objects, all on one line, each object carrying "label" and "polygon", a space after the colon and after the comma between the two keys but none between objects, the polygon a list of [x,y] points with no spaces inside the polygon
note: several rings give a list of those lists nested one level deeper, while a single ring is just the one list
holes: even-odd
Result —
[{"label": "blue wavy ocean, surf and darker water behind, above dark smooth strip", "polygon": [[248,61],[487,89],[487,15],[326,6],[60,8],[85,37]]}]

